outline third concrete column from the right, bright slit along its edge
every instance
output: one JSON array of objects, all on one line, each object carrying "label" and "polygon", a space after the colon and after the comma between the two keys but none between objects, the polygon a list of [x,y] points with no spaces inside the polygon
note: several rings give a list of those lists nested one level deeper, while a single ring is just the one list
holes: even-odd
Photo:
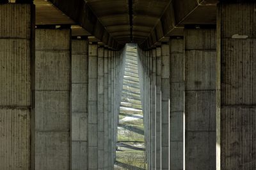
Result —
[{"label": "third concrete column from the right, bright slit along its edge", "polygon": [[185,147],[184,39],[170,39],[170,169],[184,169]]}]

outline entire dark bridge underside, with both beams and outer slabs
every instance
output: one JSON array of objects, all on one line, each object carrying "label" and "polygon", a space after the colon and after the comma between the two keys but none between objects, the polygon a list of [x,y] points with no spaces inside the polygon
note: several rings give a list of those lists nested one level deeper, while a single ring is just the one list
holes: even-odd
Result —
[{"label": "entire dark bridge underside, with both beams and outer slabs", "polygon": [[[11,0],[12,2],[15,0]],[[129,0],[34,0],[36,25],[72,25],[73,36],[90,36],[109,48],[131,42]],[[218,0],[132,0],[132,39],[152,48],[182,36],[186,24],[216,24]]]}]

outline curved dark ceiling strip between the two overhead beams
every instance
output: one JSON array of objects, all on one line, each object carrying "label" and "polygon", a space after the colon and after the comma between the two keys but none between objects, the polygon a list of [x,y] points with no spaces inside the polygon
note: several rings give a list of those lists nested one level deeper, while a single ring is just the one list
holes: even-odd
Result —
[{"label": "curved dark ceiling strip between the two overhead beams", "polygon": [[[113,38],[119,43],[131,41],[129,0],[87,0],[92,11]],[[134,0],[134,43],[142,43],[157,24],[170,0]]]}]

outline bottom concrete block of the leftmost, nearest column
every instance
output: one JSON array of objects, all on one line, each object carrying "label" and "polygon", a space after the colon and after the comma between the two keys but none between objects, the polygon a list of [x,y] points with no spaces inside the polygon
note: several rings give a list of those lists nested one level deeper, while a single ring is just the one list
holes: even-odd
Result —
[{"label": "bottom concrete block of the leftmost, nearest column", "polygon": [[0,110],[0,169],[30,167],[29,109]]}]

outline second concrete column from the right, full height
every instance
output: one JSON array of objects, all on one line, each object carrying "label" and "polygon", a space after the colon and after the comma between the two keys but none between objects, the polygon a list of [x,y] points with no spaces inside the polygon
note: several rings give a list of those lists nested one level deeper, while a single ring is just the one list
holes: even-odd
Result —
[{"label": "second concrete column from the right, full height", "polygon": [[216,29],[184,33],[186,169],[216,169]]}]

